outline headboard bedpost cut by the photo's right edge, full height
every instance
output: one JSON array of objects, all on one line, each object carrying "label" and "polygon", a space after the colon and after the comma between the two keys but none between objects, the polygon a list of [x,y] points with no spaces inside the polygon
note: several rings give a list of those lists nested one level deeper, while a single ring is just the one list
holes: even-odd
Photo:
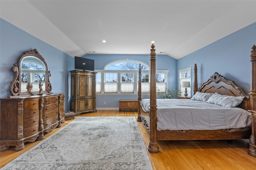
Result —
[{"label": "headboard bedpost cut by the photo's right edge, full height", "polygon": [[[251,73],[251,90],[250,90],[250,119],[255,122],[255,114],[256,114],[256,46],[253,45],[252,51],[251,51],[251,62],[252,62],[252,73]],[[255,126],[252,123],[252,135],[250,136],[250,143],[249,143],[249,149],[248,149],[248,154],[251,156],[256,157],[256,134],[254,129]]]}]

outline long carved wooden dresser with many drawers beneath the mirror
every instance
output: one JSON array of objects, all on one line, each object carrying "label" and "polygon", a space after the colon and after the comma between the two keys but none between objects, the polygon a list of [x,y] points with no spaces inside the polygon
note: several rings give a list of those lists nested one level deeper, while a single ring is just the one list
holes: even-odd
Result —
[{"label": "long carved wooden dresser with many drawers beneath the mirror", "polygon": [[2,98],[0,151],[10,146],[24,149],[25,142],[44,139],[44,133],[60,127],[64,119],[64,94]]}]

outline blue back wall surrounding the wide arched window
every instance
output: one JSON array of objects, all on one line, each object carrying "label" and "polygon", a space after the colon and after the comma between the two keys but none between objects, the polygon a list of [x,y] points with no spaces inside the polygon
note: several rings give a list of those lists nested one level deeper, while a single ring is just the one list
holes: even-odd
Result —
[{"label": "blue back wall surrounding the wide arched window", "polygon": [[[157,49],[156,49],[157,50]],[[157,51],[156,51],[157,52]],[[142,61],[150,65],[150,44],[148,49],[148,55],[93,55],[87,54],[84,58],[94,59],[95,70],[103,70],[104,66],[112,61],[116,60],[137,60]],[[168,72],[168,87],[170,89],[177,88],[176,75],[177,73],[177,60],[169,57],[168,55],[156,55],[156,70],[169,70]],[[110,107],[118,108],[118,100],[136,100],[138,94],[134,95],[97,95],[96,107]],[[149,98],[149,96],[142,96],[142,98]],[[106,102],[106,104],[104,104]]]}]

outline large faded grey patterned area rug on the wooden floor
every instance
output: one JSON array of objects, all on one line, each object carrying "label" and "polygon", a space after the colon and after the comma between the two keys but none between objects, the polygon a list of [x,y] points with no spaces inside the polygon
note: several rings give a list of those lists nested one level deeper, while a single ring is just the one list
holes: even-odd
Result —
[{"label": "large faded grey patterned area rug on the wooden floor", "polygon": [[135,117],[77,117],[2,170],[152,170]]}]

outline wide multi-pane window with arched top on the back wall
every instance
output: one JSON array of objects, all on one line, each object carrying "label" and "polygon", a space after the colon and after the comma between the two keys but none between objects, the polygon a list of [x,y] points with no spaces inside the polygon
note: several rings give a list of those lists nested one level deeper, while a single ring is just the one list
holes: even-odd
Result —
[{"label": "wide multi-pane window with arched top on the back wall", "polygon": [[[150,66],[136,60],[112,61],[104,66],[104,70],[96,70],[96,93],[101,94],[136,94],[138,93],[138,70],[142,68],[142,93],[150,92]],[[166,70],[157,73],[158,83],[165,84]],[[161,75],[161,76],[159,76]],[[162,86],[159,84],[159,86]],[[162,88],[161,88],[162,89]],[[163,88],[165,90],[165,88]]]}]

